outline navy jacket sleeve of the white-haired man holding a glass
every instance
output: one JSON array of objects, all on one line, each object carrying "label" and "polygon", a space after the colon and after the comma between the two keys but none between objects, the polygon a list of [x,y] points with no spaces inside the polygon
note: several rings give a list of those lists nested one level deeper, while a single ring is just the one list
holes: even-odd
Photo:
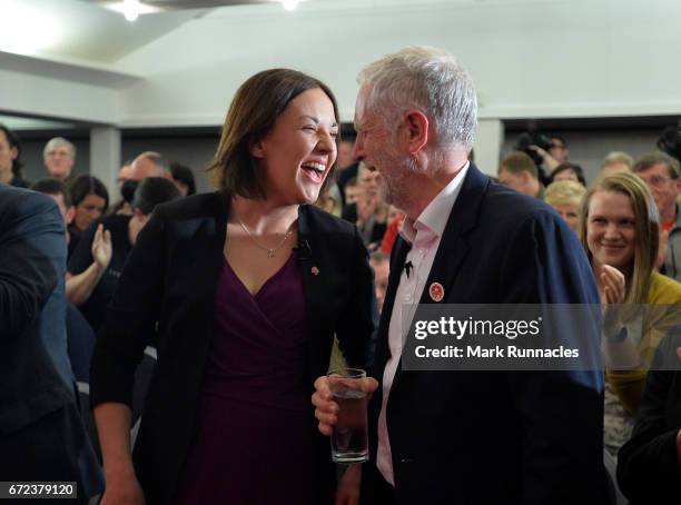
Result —
[{"label": "navy jacket sleeve of the white-haired man holding a glass", "polygon": [[[583,248],[553,212],[535,212],[509,244],[500,287],[506,303],[598,304]],[[598,354],[598,320],[584,323],[591,340],[581,345]],[[553,324],[562,331],[552,331],[551,347],[574,335],[576,321]],[[522,503],[603,503],[602,372],[517,372],[511,377],[523,432]]]}]

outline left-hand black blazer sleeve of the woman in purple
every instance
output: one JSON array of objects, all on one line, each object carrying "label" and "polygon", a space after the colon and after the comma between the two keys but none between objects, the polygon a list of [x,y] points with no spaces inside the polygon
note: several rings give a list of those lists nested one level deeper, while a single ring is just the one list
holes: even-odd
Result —
[{"label": "left-hand black blazer sleeve of the woman in purple", "polygon": [[105,325],[98,334],[90,365],[90,403],[132,404],[135,369],[155,335],[164,288],[164,220],[157,208],[140,231]]}]

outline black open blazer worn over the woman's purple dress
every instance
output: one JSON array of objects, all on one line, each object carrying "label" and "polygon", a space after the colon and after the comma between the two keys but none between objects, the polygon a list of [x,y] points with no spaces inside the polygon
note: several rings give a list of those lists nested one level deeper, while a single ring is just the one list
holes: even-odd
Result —
[{"label": "black open blazer worn over the woman's purple dress", "polygon": [[[135,447],[138,478],[151,504],[171,501],[193,443],[228,211],[229,198],[217,192],[155,210],[128,258],[92,357],[92,405],[130,405],[134,370],[158,321],[158,366]],[[327,372],[334,334],[351,364],[366,365],[373,276],[355,227],[314,207],[299,208],[297,256],[312,395],[315,378]],[[314,436],[319,475],[310,476],[310,485],[330,499],[328,439],[316,430]]]}]

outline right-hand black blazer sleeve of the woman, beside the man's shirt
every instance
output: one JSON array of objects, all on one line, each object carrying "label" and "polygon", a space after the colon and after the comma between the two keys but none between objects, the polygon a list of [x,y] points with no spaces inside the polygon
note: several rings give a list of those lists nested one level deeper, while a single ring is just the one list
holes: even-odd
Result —
[{"label": "right-hand black blazer sleeve of the woman, beside the man's shirt", "polygon": [[355,229],[348,283],[351,293],[336,336],[338,346],[349,366],[371,368],[375,347],[374,328],[377,321],[374,273],[368,264],[368,253]]}]

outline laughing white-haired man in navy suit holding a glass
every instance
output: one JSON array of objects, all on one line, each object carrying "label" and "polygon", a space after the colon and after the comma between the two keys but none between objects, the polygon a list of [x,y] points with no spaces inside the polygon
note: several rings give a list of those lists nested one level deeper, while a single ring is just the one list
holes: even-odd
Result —
[{"label": "laughing white-haired man in navy suit holding a glass", "polygon": [[[369,463],[346,472],[338,499],[357,503],[362,481],[366,504],[603,503],[600,370],[403,368],[413,324],[404,304],[598,304],[576,237],[544,202],[467,160],[476,95],[453,56],[407,48],[366,67],[359,83],[355,155],[381,172],[387,201],[406,218],[392,254],[377,380],[366,384],[377,387]],[[598,351],[598,335],[588,346]],[[330,435],[338,405],[326,377],[315,386],[319,430]]]}]

